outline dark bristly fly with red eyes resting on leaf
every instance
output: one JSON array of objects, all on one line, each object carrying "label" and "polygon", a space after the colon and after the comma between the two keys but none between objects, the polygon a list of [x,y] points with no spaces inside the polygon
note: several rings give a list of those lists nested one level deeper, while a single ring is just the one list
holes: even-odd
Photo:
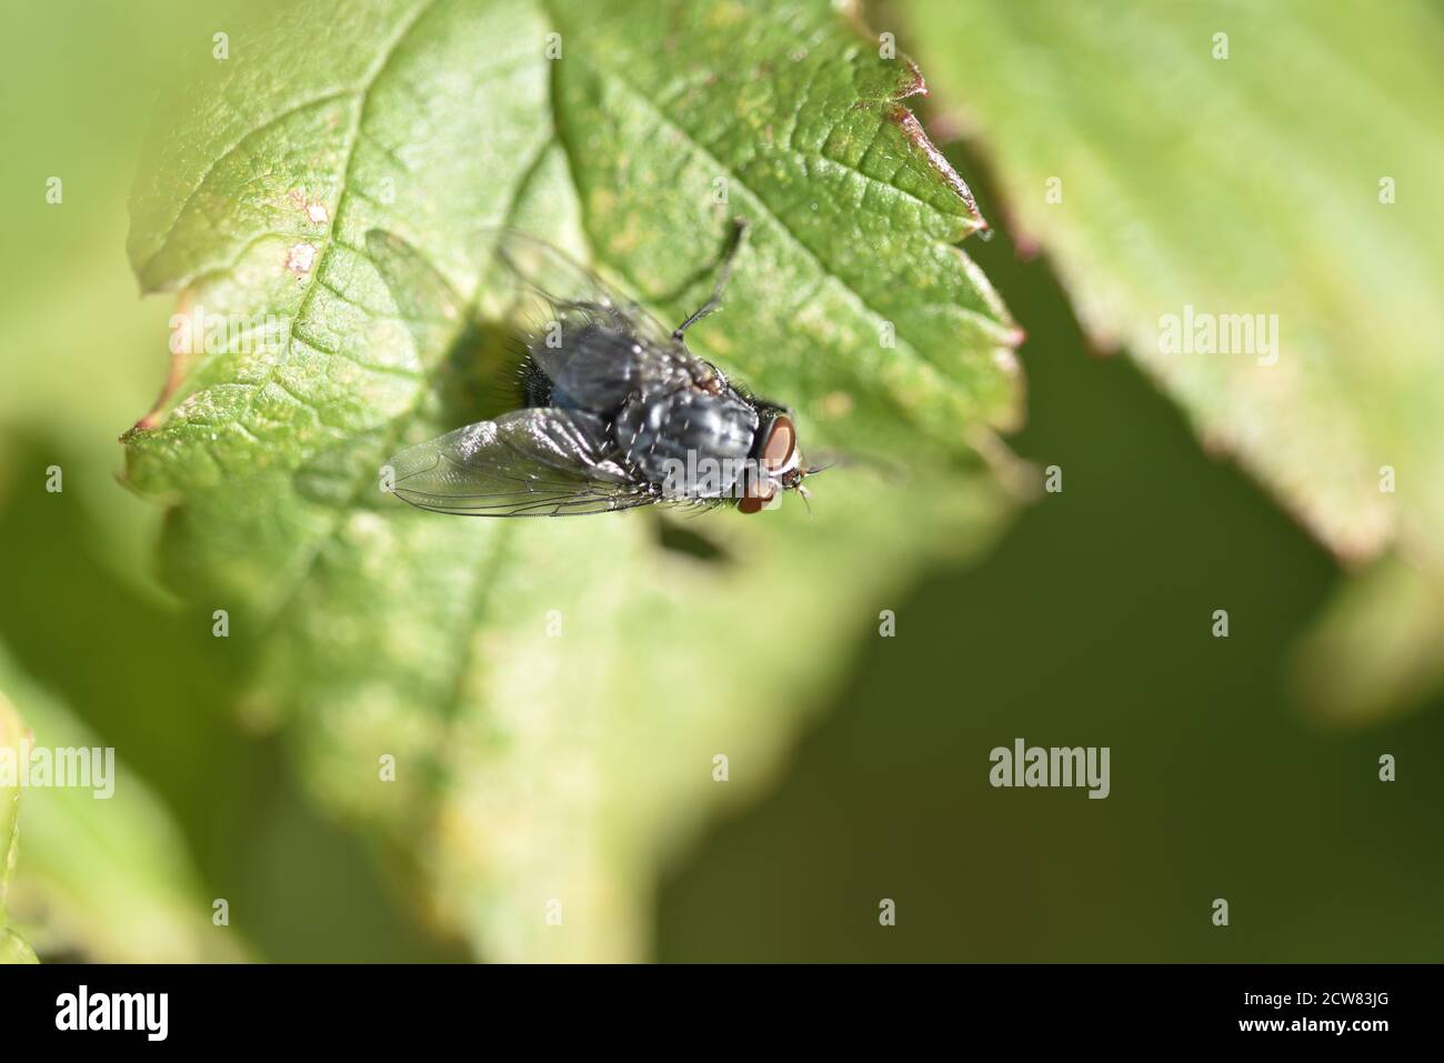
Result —
[{"label": "dark bristly fly with red eyes resting on leaf", "polygon": [[[524,406],[394,455],[390,490],[419,508],[469,517],[658,503],[758,513],[784,491],[806,497],[803,480],[817,469],[803,464],[793,412],[732,383],[684,341],[721,306],[745,235],[738,220],[712,296],[667,331],[550,244],[497,233],[497,264],[531,311],[520,329]],[[393,259],[404,248],[384,233],[368,241]]]}]

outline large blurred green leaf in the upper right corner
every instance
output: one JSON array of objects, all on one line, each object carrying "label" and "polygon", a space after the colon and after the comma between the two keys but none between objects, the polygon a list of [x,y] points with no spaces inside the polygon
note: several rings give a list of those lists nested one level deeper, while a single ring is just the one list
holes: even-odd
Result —
[{"label": "large blurred green leaf in the upper right corner", "polygon": [[[905,13],[934,88],[1084,328],[1122,344],[1210,449],[1339,557],[1395,549],[1438,583],[1437,10],[918,0]],[[1227,58],[1214,58],[1220,33]],[[1276,360],[1165,351],[1164,319],[1186,308],[1276,315]],[[1386,686],[1409,686],[1396,679]]]}]

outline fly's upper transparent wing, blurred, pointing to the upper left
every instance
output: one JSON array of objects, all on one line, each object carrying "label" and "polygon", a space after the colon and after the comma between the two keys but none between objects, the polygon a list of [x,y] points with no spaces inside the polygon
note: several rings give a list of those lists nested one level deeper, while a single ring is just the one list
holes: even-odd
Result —
[{"label": "fly's upper transparent wing, blurred, pointing to the upper left", "polygon": [[622,380],[666,390],[713,373],[641,305],[552,244],[518,230],[495,230],[490,238],[501,272],[523,295],[531,357],[573,397],[595,387],[601,403]]}]

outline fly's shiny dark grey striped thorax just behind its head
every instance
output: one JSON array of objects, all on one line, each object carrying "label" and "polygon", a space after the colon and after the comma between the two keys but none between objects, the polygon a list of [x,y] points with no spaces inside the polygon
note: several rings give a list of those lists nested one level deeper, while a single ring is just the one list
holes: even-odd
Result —
[{"label": "fly's shiny dark grey striped thorax just behind its head", "polygon": [[625,458],[669,494],[715,498],[742,472],[757,413],[729,394],[683,390],[628,402],[615,433]]}]

